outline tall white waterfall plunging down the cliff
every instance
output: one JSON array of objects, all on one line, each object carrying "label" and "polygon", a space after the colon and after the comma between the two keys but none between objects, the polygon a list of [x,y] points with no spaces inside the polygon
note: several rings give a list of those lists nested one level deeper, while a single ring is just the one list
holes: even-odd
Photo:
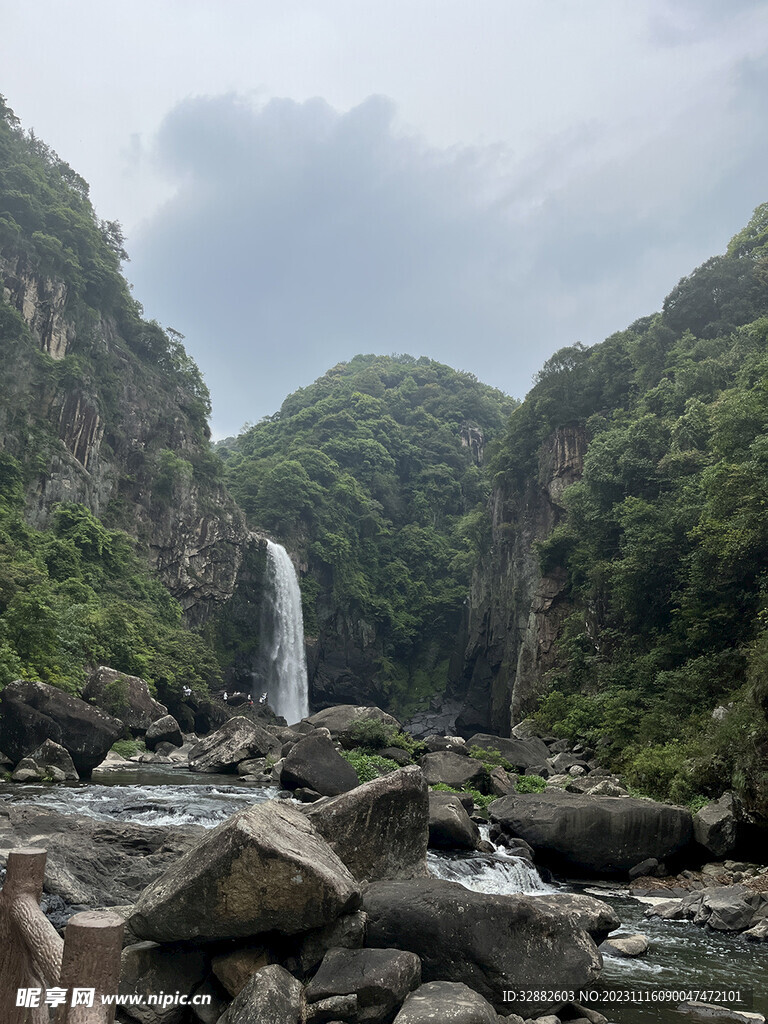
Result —
[{"label": "tall white waterfall plunging down the cliff", "polygon": [[274,713],[294,725],[309,714],[301,592],[293,562],[283,545],[267,541],[266,557],[268,588],[262,622],[264,688]]}]

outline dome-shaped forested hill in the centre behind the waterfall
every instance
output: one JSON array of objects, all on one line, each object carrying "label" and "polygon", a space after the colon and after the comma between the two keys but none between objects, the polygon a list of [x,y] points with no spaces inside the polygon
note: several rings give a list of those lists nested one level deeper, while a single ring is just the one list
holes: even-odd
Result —
[{"label": "dome-shaped forested hill in the centre behind the waterfall", "polygon": [[487,495],[467,439],[513,408],[425,357],[358,355],[222,446],[250,522],[308,561],[307,631],[366,624],[395,707],[445,684]]}]

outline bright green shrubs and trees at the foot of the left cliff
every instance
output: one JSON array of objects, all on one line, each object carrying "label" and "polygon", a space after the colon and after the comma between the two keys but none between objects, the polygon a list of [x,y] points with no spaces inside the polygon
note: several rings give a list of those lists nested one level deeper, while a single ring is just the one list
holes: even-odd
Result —
[{"label": "bright green shrubs and trees at the foot of the left cliff", "polygon": [[142,676],[163,698],[220,678],[130,538],[82,505],[60,505],[49,529],[33,529],[18,463],[0,454],[0,688],[22,678],[78,692],[88,665]]}]

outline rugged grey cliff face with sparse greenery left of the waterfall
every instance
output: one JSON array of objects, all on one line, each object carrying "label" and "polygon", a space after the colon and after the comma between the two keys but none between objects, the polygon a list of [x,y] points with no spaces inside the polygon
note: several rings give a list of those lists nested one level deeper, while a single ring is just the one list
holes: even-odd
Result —
[{"label": "rugged grey cliff face with sparse greenery left of the waterfall", "polygon": [[30,522],[45,526],[60,502],[87,506],[137,539],[201,624],[231,597],[248,534],[194,395],[23,255],[0,254],[0,281],[29,331],[4,351],[0,447],[27,469]]}]

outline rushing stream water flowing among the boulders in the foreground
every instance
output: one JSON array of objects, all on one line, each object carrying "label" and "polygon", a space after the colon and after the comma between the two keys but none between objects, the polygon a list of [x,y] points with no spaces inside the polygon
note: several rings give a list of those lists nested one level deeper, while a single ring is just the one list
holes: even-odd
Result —
[{"label": "rushing stream water flowing among the boulders in the foreground", "polygon": [[[274,786],[232,775],[200,775],[165,766],[96,770],[87,783],[0,784],[0,804],[47,807],[66,814],[139,824],[198,824],[212,828],[236,811],[270,800]],[[624,991],[741,988],[754,993],[752,1009],[768,1017],[768,944],[751,943],[685,922],[643,916],[646,904],[615,883],[545,883],[525,861],[505,850],[495,854],[429,853],[430,871],[479,892],[511,894],[581,892],[610,903],[622,933],[640,932],[650,946],[642,957],[604,957],[603,987]],[[546,979],[542,979],[546,986]],[[646,996],[641,996],[645,998]],[[590,1004],[616,1024],[685,1024],[673,1005],[657,1001]]]}]

